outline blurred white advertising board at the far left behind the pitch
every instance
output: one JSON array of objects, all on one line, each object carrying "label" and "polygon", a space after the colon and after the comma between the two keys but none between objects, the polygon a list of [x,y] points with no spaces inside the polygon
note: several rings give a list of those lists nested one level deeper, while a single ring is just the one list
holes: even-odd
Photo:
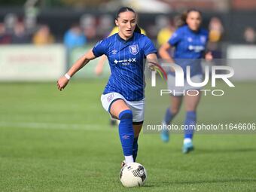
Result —
[{"label": "blurred white advertising board at the far left behind the pitch", "polygon": [[62,44],[0,46],[0,81],[56,81],[65,71]]}]

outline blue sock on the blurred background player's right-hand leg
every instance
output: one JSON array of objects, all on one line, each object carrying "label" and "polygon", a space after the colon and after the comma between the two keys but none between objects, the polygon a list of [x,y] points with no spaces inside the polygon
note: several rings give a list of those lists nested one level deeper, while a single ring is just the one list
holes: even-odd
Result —
[{"label": "blue sock on the blurred background player's right-hand leg", "polygon": [[197,123],[197,113],[196,111],[187,111],[186,120],[184,122],[184,139],[192,139],[194,129]]}]

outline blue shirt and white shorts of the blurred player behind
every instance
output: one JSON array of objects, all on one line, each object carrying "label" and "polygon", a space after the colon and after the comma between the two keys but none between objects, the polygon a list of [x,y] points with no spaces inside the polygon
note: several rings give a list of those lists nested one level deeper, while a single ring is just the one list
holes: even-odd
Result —
[{"label": "blue shirt and white shorts of the blurred player behind", "polygon": [[[192,87],[187,84],[186,68],[190,66],[190,78],[195,83],[203,81],[203,70],[201,59],[206,51],[209,33],[205,29],[198,32],[192,31],[187,25],[178,28],[169,39],[168,43],[175,47],[174,61],[181,66],[184,72],[184,87],[175,87],[175,77],[173,72],[168,74],[168,89],[181,93],[182,90],[194,90],[202,87]],[[178,96],[178,94],[176,94]]]}]

